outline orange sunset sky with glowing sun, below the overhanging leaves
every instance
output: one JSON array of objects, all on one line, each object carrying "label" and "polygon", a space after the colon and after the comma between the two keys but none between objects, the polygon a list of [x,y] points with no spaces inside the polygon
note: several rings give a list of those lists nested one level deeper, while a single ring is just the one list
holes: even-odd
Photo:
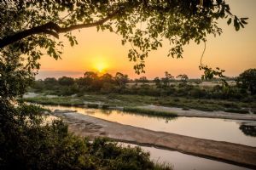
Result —
[{"label": "orange sunset sky with glowing sun, below the overhanging leaves", "polygon": [[[227,26],[227,20],[219,20],[219,26],[224,33],[220,37],[208,36],[207,51],[203,63],[211,67],[224,69],[225,75],[234,77],[241,71],[256,67],[256,0],[227,0],[233,14],[249,17],[248,25],[241,31],[235,31],[233,26]],[[84,71],[107,71],[111,74],[123,72],[131,78],[146,76],[149,79],[164,77],[168,71],[173,76],[187,74],[189,77],[201,77],[200,65],[203,43],[189,43],[184,48],[183,59],[167,57],[168,43],[163,48],[151,52],[146,59],[145,74],[137,75],[133,70],[127,54],[130,45],[121,44],[121,37],[108,31],[96,31],[96,27],[73,31],[79,45],[70,47],[65,42],[62,59],[55,60],[44,56],[37,78],[45,77],[82,77]]]}]

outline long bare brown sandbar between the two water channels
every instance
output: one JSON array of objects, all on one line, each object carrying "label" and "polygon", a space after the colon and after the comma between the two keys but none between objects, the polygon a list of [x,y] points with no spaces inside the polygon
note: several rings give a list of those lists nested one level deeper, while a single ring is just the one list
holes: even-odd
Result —
[{"label": "long bare brown sandbar between the two water channels", "polygon": [[104,136],[117,141],[177,150],[193,156],[256,168],[255,147],[155,132],[68,111],[55,111],[54,115],[61,116],[69,124],[69,130],[80,136]]}]

